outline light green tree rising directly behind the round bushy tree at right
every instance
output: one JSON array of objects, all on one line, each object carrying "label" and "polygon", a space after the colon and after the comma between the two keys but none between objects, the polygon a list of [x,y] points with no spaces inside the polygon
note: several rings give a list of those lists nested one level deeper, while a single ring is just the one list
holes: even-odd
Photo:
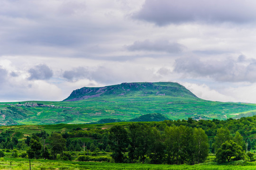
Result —
[{"label": "light green tree rising directly behind the round bushy tree at right", "polygon": [[223,128],[223,127],[218,128],[217,135],[214,137],[215,142],[212,144],[214,151],[217,152],[221,144],[225,143],[230,139],[231,139],[231,136],[228,128]]}]

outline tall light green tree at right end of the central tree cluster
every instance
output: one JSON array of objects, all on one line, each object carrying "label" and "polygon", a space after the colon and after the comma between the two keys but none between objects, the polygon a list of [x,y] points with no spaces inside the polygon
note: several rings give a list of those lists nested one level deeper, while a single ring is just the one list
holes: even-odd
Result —
[{"label": "tall light green tree at right end of the central tree cluster", "polygon": [[201,128],[193,129],[193,139],[194,139],[194,147],[195,147],[195,161],[197,163],[201,163],[205,161],[209,152],[209,143],[208,136],[205,134],[204,130]]}]

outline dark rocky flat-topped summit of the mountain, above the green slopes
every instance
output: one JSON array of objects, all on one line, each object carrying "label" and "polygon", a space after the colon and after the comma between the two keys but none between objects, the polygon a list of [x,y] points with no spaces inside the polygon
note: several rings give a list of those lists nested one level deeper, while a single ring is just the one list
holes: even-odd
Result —
[{"label": "dark rocky flat-topped summit of the mountain, above the green slopes", "polygon": [[100,96],[131,96],[131,95],[162,95],[173,97],[192,97],[197,98],[192,92],[183,85],[173,82],[142,82],[142,83],[122,83],[119,85],[109,85],[104,87],[82,87],[74,90],[64,101],[80,101],[83,99]]}]

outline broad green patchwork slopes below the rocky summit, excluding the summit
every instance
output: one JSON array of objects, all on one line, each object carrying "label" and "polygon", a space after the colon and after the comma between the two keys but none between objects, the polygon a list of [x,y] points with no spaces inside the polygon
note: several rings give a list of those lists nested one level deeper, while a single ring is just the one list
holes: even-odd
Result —
[{"label": "broad green patchwork slopes below the rocky summit, excluding the summit", "polygon": [[[34,102],[34,101],[33,101]],[[20,102],[26,103],[26,102]],[[55,107],[0,105],[2,125],[83,124],[104,118],[128,121],[148,113],[161,113],[169,119],[228,119],[256,114],[256,104],[212,102],[198,98],[170,96],[98,97],[75,102],[37,102]],[[13,104],[13,105],[6,105]]]}]

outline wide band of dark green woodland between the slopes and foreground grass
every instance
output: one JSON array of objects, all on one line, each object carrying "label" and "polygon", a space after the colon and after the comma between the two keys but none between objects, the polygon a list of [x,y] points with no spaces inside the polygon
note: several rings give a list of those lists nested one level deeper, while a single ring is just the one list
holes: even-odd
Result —
[{"label": "wide band of dark green woodland between the slopes and foreground grass", "polygon": [[4,159],[177,165],[256,161],[256,116],[227,120],[2,126],[0,130],[0,157]]}]

